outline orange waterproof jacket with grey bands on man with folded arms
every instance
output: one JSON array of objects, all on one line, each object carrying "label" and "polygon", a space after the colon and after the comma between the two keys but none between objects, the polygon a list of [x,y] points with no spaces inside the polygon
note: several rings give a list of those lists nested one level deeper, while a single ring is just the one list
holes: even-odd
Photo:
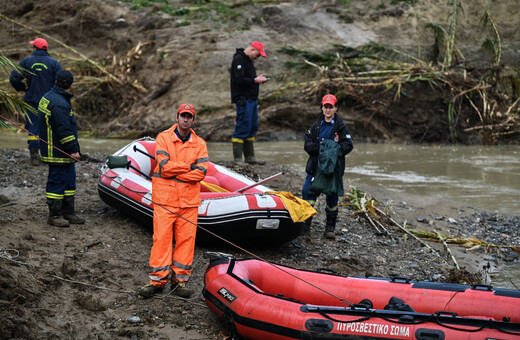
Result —
[{"label": "orange waterproof jacket with grey bands on man with folded arms", "polygon": [[[173,125],[157,135],[152,200],[160,205],[179,208],[200,206],[200,181],[206,177],[209,158],[204,139],[191,130],[183,143]],[[192,166],[194,165],[194,170]]]}]

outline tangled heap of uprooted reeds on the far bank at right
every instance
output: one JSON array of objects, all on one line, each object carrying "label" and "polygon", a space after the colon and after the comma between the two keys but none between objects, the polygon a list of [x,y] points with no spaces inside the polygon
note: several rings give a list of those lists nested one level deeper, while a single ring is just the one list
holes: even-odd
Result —
[{"label": "tangled heap of uprooted reeds on the far bank at right", "polygon": [[[413,0],[407,3],[414,6]],[[481,47],[489,60],[479,65],[467,60],[456,44],[462,1],[449,1],[448,5],[451,13],[447,25],[423,26],[435,37],[429,59],[422,52],[420,39],[417,55],[375,42],[358,48],[335,45],[332,51],[322,54],[282,48],[280,52],[299,58],[286,63],[287,69],[307,72],[314,80],[286,84],[271,96],[295,90],[308,95],[334,92],[338,98],[364,108],[373,119],[387,120],[385,111],[392,103],[399,103],[413,89],[422,89],[445,101],[440,105],[444,117],[439,120],[446,126],[446,133],[430,138],[427,133],[418,133],[413,141],[467,143],[468,135],[476,135],[478,141],[473,142],[514,143],[520,134],[520,70],[501,63],[501,38],[488,8],[482,10],[480,26]],[[417,21],[419,17],[416,13]],[[384,98],[386,104],[374,105],[374,97]]]}]

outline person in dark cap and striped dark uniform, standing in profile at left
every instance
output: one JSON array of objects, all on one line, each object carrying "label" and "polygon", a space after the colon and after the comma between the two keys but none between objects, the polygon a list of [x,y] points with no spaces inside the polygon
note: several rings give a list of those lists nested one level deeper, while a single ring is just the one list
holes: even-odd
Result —
[{"label": "person in dark cap and striped dark uniform, standing in profile at left", "polygon": [[80,148],[76,117],[70,105],[73,83],[72,73],[58,72],[56,85],[43,95],[38,105],[42,139],[40,152],[42,161],[49,165],[45,188],[49,206],[48,223],[56,227],[85,223],[85,219],[74,212],[75,163],[80,158]]}]

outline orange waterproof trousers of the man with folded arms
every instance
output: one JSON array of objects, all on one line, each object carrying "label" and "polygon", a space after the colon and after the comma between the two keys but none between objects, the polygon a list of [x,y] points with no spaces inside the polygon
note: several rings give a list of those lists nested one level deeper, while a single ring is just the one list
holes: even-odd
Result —
[{"label": "orange waterproof trousers of the man with folded arms", "polygon": [[153,215],[150,283],[165,284],[170,268],[172,282],[188,281],[195,250],[198,208],[155,206]]}]

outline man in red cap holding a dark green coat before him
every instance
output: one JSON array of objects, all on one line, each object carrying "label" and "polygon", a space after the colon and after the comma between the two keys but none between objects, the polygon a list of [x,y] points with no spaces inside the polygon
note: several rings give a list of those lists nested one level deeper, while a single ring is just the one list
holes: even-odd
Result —
[{"label": "man in red cap holding a dark green coat before him", "polygon": [[[327,215],[325,237],[335,239],[334,229],[338,217],[338,196],[343,195],[345,156],[354,147],[350,132],[337,113],[338,100],[336,96],[333,94],[323,96],[321,111],[318,121],[305,134],[304,149],[309,154],[309,160],[305,166],[307,177],[302,188],[302,198],[309,202],[311,206],[314,206],[318,195],[324,191],[313,192],[313,182],[318,181],[320,172],[327,172],[325,176],[321,177],[321,179],[325,179],[325,187],[328,189],[325,192],[327,203],[325,207]],[[328,166],[329,164],[333,164],[333,166]],[[328,171],[322,171],[327,166],[329,167]],[[336,176],[337,181],[332,180],[334,176]],[[310,231],[311,222],[312,217],[305,221],[305,232]]]}]

